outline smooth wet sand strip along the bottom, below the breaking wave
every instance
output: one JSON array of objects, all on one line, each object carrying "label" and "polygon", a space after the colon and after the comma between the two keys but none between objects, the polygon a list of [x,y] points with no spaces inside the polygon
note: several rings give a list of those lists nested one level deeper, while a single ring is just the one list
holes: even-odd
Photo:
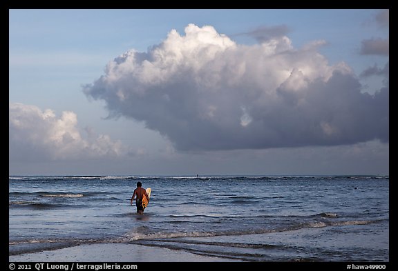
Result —
[{"label": "smooth wet sand strip along the bottom, below the breaking wave", "polygon": [[130,243],[95,243],[8,256],[9,262],[215,262],[236,261]]}]

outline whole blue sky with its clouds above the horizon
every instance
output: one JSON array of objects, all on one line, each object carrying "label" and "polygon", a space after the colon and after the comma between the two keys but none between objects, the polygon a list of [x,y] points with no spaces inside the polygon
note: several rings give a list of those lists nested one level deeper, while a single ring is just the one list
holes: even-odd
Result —
[{"label": "whole blue sky with its clouds above the horizon", "polygon": [[389,10],[9,10],[9,174],[389,174]]}]

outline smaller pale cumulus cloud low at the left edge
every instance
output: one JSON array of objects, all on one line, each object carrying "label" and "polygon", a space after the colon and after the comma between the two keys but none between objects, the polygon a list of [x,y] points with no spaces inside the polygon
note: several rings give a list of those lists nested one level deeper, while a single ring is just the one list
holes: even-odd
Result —
[{"label": "smaller pale cumulus cloud low at the left edge", "polygon": [[84,138],[74,112],[57,117],[53,110],[23,103],[9,104],[9,135],[10,157],[22,160],[117,157],[124,152],[122,144],[107,135],[87,130]]}]

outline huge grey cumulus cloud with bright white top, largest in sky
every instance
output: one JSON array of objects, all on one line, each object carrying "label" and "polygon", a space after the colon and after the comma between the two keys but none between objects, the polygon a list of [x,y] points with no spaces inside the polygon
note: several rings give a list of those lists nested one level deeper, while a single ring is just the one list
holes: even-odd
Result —
[{"label": "huge grey cumulus cloud with bright white top, largest in sky", "polygon": [[317,52],[324,43],[296,49],[281,33],[246,46],[189,24],[184,35],[171,30],[147,52],[110,61],[83,90],[178,150],[388,141],[388,88],[362,93],[345,63],[330,66]]}]

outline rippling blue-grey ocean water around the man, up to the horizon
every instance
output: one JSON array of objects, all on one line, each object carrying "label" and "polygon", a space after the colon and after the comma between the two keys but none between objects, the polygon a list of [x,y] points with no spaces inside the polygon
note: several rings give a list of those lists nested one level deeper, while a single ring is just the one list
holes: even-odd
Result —
[{"label": "rippling blue-grey ocean water around the man, up to the horizon", "polygon": [[[142,215],[130,205],[137,181],[152,189]],[[9,255],[84,243],[223,261],[389,261],[389,177],[9,177]]]}]

